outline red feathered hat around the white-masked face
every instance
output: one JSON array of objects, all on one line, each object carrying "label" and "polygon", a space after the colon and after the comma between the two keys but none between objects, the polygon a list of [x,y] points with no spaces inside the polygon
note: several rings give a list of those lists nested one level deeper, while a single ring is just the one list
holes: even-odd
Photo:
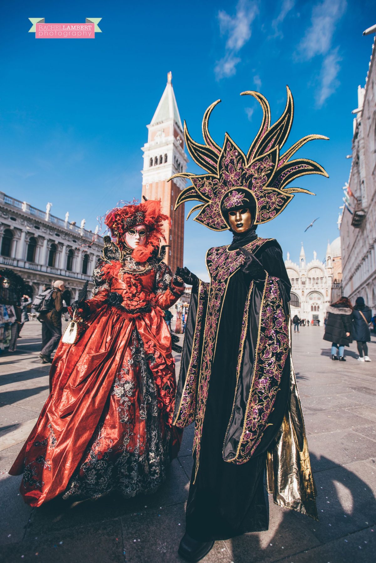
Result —
[{"label": "red feathered hat around the white-masked face", "polygon": [[115,207],[107,214],[105,225],[111,230],[112,236],[116,237],[117,244],[124,249],[125,233],[137,225],[145,225],[147,230],[146,243],[132,252],[132,257],[137,262],[146,262],[154,251],[157,251],[161,239],[166,242],[163,232],[163,222],[168,221],[171,226],[170,217],[161,213],[161,202],[148,199],[139,205],[131,204],[124,207]]}]

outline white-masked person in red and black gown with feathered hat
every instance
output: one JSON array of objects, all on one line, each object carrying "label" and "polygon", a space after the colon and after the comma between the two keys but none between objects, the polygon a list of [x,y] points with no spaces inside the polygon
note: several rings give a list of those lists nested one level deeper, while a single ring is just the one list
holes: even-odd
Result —
[{"label": "white-masked person in red and black gown with feathered hat", "polygon": [[[172,427],[176,391],[164,310],[184,292],[162,261],[160,202],[113,209],[94,269],[94,297],[73,303],[85,330],[60,342],[49,395],[10,470],[31,506],[64,498],[155,491],[179,451]],[[161,253],[161,254],[160,254]]]}]

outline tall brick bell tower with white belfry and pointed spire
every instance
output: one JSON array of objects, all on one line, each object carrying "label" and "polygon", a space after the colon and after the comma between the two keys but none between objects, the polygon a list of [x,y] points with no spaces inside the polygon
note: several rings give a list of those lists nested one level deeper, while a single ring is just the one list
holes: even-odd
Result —
[{"label": "tall brick bell tower with white belfry and pointed spire", "polygon": [[172,74],[167,74],[167,84],[151,123],[147,125],[148,140],[142,147],[142,195],[147,199],[160,199],[162,212],[171,217],[171,229],[165,226],[167,244],[165,262],[174,273],[183,266],[184,205],[174,211],[176,198],[185,187],[184,178],[170,176],[185,172],[188,158],[184,153],[184,135],[176,104]]}]

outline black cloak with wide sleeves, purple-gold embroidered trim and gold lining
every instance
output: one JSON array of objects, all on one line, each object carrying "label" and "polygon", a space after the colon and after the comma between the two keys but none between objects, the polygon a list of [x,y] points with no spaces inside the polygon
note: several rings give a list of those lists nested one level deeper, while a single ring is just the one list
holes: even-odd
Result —
[{"label": "black cloak with wide sleeves, purple-gold embroidered trim and gold lining", "polygon": [[192,294],[185,329],[174,424],[195,422],[186,530],[202,541],[268,529],[265,468],[275,503],[317,518],[291,361],[291,285],[279,244],[251,239],[209,249],[211,282]]}]

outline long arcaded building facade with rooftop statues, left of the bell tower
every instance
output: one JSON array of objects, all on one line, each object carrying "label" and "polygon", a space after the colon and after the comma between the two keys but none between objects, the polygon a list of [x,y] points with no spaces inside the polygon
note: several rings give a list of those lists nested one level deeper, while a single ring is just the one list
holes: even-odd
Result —
[{"label": "long arcaded building facade with rooftop statues, left of the bell tower", "polygon": [[[28,202],[0,191],[0,268],[10,268],[30,285],[33,297],[43,285],[63,280],[71,300],[86,280],[93,287],[92,272],[103,248],[101,237]],[[89,246],[90,245],[90,246]]]}]

